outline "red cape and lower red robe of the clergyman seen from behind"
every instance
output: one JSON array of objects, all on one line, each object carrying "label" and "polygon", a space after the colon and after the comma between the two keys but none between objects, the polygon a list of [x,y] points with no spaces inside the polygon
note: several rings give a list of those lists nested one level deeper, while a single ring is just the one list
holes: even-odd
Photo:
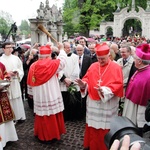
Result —
[{"label": "red cape and lower red robe of the clergyman seen from behind", "polygon": [[[34,87],[51,80],[51,77],[56,74],[59,64],[60,60],[39,59],[30,66],[27,84]],[[41,141],[59,140],[63,133],[66,133],[66,129],[62,112],[43,116],[35,114],[34,135]]]}]

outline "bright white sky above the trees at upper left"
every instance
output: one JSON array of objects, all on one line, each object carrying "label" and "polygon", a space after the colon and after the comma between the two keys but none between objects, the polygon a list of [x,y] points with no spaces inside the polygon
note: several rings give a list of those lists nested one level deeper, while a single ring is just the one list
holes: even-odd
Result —
[{"label": "bright white sky above the trees at upper left", "polygon": [[[21,20],[36,18],[40,2],[43,2],[45,6],[46,0],[0,0],[0,11],[12,15],[16,25],[20,25]],[[55,4],[60,8],[63,2],[64,0],[49,0],[49,5],[51,7]]]}]

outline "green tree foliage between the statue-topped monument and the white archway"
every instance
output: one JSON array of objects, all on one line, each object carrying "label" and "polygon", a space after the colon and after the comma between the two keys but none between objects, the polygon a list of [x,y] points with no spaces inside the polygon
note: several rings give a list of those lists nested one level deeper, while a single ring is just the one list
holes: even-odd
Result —
[{"label": "green tree foliage between the statue-topped monument and the white archway", "polygon": [[[63,6],[64,32],[73,35],[79,32],[80,35],[89,35],[91,29],[99,29],[101,21],[113,21],[113,12],[120,8],[132,7],[132,0],[65,0]],[[146,9],[147,0],[135,0],[135,8],[138,11],[140,6]]]}]

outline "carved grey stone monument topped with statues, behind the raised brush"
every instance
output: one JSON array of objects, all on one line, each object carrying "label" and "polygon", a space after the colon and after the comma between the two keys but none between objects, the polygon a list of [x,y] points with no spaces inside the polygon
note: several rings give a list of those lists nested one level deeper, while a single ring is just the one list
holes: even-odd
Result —
[{"label": "carved grey stone monument topped with statues, behind the raised brush", "polygon": [[50,0],[45,0],[42,2],[37,9],[37,17],[35,19],[29,19],[31,23],[31,39],[32,42],[39,42],[45,44],[47,42],[47,35],[39,31],[37,27],[38,23],[46,27],[47,31],[51,35],[62,42],[62,33],[63,33],[63,17],[61,8],[57,8],[55,5],[52,7],[49,6]]}]

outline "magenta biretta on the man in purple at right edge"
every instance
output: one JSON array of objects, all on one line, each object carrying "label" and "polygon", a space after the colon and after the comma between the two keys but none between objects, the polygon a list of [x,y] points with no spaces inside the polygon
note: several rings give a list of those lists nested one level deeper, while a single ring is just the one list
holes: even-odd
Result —
[{"label": "magenta biretta on the man in purple at right edge", "polygon": [[150,45],[141,44],[137,46],[135,53],[142,60],[150,60]]}]

